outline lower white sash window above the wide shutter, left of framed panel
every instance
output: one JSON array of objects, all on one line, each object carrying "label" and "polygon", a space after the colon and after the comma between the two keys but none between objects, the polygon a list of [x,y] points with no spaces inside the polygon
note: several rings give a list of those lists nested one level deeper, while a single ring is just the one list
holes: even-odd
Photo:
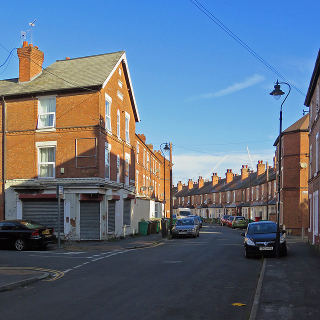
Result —
[{"label": "lower white sash window above the wide shutter, left of framed panel", "polygon": [[56,141],[36,142],[38,151],[38,178],[55,177]]}]

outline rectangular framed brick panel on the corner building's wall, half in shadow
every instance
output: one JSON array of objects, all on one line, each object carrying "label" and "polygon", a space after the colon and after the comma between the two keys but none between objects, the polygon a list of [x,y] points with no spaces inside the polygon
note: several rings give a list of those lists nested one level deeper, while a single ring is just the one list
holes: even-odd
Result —
[{"label": "rectangular framed brick panel on the corner building's wall, half in shadow", "polygon": [[96,166],[96,138],[75,139],[75,167]]}]

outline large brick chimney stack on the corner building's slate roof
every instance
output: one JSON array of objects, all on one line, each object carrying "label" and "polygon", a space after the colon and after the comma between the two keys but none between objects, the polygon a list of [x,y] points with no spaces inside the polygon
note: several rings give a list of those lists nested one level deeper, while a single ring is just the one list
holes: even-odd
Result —
[{"label": "large brick chimney stack on the corner building's slate roof", "polygon": [[16,53],[19,57],[19,82],[30,81],[42,72],[44,53],[37,46],[23,41],[23,46],[17,48]]}]

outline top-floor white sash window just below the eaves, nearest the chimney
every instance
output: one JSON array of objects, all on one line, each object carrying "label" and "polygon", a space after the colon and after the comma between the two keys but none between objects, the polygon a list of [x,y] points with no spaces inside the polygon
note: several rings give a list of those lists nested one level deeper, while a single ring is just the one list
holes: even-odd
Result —
[{"label": "top-floor white sash window just below the eaves, nearest the chimney", "polygon": [[38,98],[38,129],[55,127],[55,96]]}]

